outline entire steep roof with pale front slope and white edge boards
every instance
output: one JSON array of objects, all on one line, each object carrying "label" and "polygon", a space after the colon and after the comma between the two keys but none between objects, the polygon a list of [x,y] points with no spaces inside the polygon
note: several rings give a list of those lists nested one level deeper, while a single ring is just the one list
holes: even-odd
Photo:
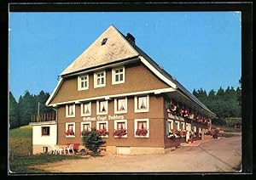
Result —
[{"label": "entire steep roof with pale front slope and white edge boards", "polygon": [[[105,41],[105,44],[102,44],[102,41]],[[90,68],[95,68],[96,66],[108,65],[119,62],[120,60],[125,61],[126,59],[137,57],[139,57],[143,64],[148,66],[148,68],[152,70],[154,74],[162,81],[166,82],[166,84],[170,85],[170,87],[177,89],[178,92],[183,93],[186,97],[195,102],[195,104],[198,104],[201,106],[201,108],[207,110],[208,113],[215,116],[215,114],[212,113],[212,111],[209,110],[204,104],[202,104],[198,98],[196,98],[192,93],[189,93],[189,91],[183,87],[181,83],[177,82],[177,80],[166,72],[166,70],[154,62],[154,60],[151,59],[147,53],[143,52],[141,48],[138,48],[134,42],[128,40],[128,37],[125,37],[113,25],[110,25],[108,29],[104,31],[102,35],[84,51],[84,53],[75,59],[73,63],[67,67],[67,69],[63,70],[61,76],[67,76],[81,70],[87,70]],[[55,96],[55,93],[57,93],[58,88],[61,86],[61,82],[63,82],[62,78],[57,87],[55,87],[54,92],[47,100],[47,105]]]}]

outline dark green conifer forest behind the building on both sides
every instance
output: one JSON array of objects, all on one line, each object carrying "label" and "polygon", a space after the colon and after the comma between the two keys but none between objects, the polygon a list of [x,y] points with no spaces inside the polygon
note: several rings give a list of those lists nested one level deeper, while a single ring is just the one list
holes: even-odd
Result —
[{"label": "dark green conifer forest behind the building on both sides", "polygon": [[[193,94],[216,114],[216,118],[212,120],[213,125],[229,127],[241,125],[241,79],[236,89],[219,87],[217,91],[212,89],[207,93],[201,88],[194,89]],[[43,90],[38,95],[26,91],[23,96],[20,95],[17,102],[13,94],[9,92],[9,127],[15,128],[29,124],[31,116],[38,114],[38,107],[40,114],[55,112],[45,105],[48,98],[49,93]]]}]

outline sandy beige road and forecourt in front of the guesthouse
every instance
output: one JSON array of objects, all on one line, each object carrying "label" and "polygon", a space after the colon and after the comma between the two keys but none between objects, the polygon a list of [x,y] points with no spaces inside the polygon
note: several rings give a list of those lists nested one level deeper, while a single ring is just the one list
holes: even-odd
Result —
[{"label": "sandy beige road and forecourt in front of the guesthouse", "polygon": [[38,168],[49,172],[235,172],[240,162],[241,136],[236,136],[182,146],[165,155],[106,155]]}]

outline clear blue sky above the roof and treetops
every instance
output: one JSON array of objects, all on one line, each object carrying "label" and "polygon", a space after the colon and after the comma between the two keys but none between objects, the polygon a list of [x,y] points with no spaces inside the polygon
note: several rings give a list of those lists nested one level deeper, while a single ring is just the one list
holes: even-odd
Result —
[{"label": "clear blue sky above the roof and treetops", "polygon": [[241,14],[237,12],[10,13],[9,90],[52,93],[57,76],[114,25],[130,32],[190,93],[238,87]]}]

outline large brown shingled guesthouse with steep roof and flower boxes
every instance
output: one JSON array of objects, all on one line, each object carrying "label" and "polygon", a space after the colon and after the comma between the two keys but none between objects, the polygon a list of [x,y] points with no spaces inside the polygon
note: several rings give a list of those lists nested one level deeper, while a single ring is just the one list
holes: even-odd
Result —
[{"label": "large brown shingled guesthouse with steep roof and flower boxes", "polygon": [[[82,149],[81,132],[96,127],[106,140],[102,149],[113,154],[163,154],[189,141],[189,133],[202,138],[214,117],[137,47],[135,37],[113,25],[62,71],[46,104],[56,110],[56,144]],[[32,124],[55,128],[48,121]],[[37,142],[33,153],[49,147]]]}]

